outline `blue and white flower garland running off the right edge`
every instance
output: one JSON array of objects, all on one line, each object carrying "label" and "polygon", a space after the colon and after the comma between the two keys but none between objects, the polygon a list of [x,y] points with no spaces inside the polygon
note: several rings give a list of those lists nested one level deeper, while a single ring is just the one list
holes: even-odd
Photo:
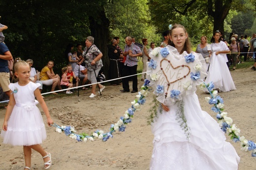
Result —
[{"label": "blue and white flower garland running off the right edge", "polygon": [[233,123],[233,120],[231,117],[227,116],[226,112],[223,112],[224,109],[224,101],[223,99],[217,95],[218,91],[217,90],[213,90],[214,89],[214,85],[213,83],[209,83],[208,85],[206,85],[205,83],[201,85],[202,88],[207,88],[207,90],[209,91],[211,97],[205,97],[205,100],[211,104],[214,105],[211,110],[215,113],[217,113],[217,119],[218,119],[218,123],[221,126],[221,129],[226,133],[228,133],[228,136],[231,136],[230,139],[233,142],[238,142],[240,141],[241,144],[241,150],[244,151],[252,151],[252,156],[256,157],[256,144],[253,141],[248,141],[245,139],[244,136],[240,136],[240,129],[236,127],[235,124]]}]

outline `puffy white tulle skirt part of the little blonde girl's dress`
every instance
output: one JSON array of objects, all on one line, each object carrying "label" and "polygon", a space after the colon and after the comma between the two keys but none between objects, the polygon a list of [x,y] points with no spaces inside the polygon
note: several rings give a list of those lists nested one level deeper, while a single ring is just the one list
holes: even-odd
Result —
[{"label": "puffy white tulle skirt part of the little blonde girl's dress", "polygon": [[1,131],[3,143],[30,146],[46,139],[46,130],[39,109],[35,105],[14,106],[7,122],[7,131]]}]

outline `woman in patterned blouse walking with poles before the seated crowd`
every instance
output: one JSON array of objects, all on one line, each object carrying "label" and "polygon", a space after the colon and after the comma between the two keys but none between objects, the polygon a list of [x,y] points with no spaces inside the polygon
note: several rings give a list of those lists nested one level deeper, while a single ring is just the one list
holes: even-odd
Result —
[{"label": "woman in patterned blouse walking with poles before the seated crowd", "polygon": [[[88,36],[85,41],[85,49],[83,52],[83,57],[85,58],[85,65],[88,69],[88,79],[92,84],[97,83],[96,76],[100,68],[103,66],[102,64],[102,53],[99,49],[94,45],[94,37]],[[96,84],[92,85],[92,94],[89,96],[90,98],[96,97]],[[98,84],[100,92],[103,91],[105,86]]]}]

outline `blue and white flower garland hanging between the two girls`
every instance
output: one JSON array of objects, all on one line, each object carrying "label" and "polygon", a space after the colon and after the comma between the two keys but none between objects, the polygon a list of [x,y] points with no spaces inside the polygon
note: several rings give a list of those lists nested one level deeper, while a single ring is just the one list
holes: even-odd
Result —
[{"label": "blue and white flower garland hanging between the two girls", "polygon": [[56,132],[62,133],[70,138],[77,140],[78,142],[87,142],[87,141],[95,141],[95,139],[99,139],[103,142],[106,142],[109,138],[113,138],[113,132],[119,131],[124,132],[126,129],[126,124],[131,122],[131,118],[134,115],[135,111],[140,110],[140,106],[146,102],[146,96],[149,92],[149,83],[147,79],[145,80],[144,85],[141,86],[141,91],[136,95],[137,99],[131,102],[131,107],[125,112],[124,116],[121,116],[116,124],[111,124],[109,132],[104,133],[102,130],[96,130],[94,133],[89,135],[88,133],[76,134],[75,128],[73,126],[60,126],[56,123],[52,124],[52,126],[56,127]]}]

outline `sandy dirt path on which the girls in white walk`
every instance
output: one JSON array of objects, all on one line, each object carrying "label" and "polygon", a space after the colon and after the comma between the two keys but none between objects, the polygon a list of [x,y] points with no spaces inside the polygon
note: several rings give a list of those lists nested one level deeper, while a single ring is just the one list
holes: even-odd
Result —
[{"label": "sandy dirt path on which the girls in white walk", "polygon": [[[248,69],[231,71],[237,90],[220,93],[224,99],[225,112],[233,119],[241,135],[256,142],[256,72]],[[139,86],[143,83],[139,82]],[[94,132],[101,129],[108,131],[112,123],[131,106],[135,99],[131,93],[120,93],[122,86],[107,86],[102,96],[90,99],[90,91],[80,91],[80,96],[66,95],[63,98],[49,100],[46,103],[52,118],[60,125],[76,126],[78,132]],[[208,95],[198,90],[202,110],[215,118],[216,114],[204,100]],[[132,123],[126,131],[114,133],[114,138],[107,142],[76,142],[64,134],[55,132],[54,127],[47,127],[47,140],[42,146],[52,154],[53,166],[50,170],[148,170],[153,148],[151,127],[147,125],[148,110],[152,93],[147,97],[141,111],[135,112]],[[80,101],[79,101],[80,100]],[[41,108],[40,108],[41,110]],[[5,110],[0,110],[0,124]],[[45,120],[45,116],[43,115]],[[19,140],[19,139],[17,139]],[[229,137],[227,137],[227,141]],[[240,150],[240,143],[231,142],[241,157],[239,170],[256,170],[256,158],[251,152]],[[0,169],[23,170],[23,148],[2,144],[0,138]],[[43,160],[37,152],[32,152],[32,170],[42,170]]]}]

